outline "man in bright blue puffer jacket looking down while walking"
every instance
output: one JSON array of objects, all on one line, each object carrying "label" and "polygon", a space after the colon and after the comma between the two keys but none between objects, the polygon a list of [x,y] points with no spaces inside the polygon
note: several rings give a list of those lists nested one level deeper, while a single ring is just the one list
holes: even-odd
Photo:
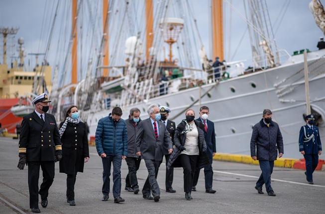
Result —
[{"label": "man in bright blue puffer jacket looking down while walking", "polygon": [[110,165],[113,163],[113,197],[114,203],[124,202],[121,193],[121,164],[127,156],[127,129],[122,110],[114,107],[108,117],[98,121],[95,141],[98,154],[103,162],[103,199],[108,200],[110,183]]}]

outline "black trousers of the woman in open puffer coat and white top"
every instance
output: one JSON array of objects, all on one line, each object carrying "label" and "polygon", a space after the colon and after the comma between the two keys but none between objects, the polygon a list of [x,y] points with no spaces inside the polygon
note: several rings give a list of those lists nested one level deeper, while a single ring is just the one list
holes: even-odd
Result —
[{"label": "black trousers of the woman in open puffer coat and white top", "polygon": [[180,154],[179,158],[184,173],[184,192],[190,193],[192,192],[193,178],[199,155]]}]

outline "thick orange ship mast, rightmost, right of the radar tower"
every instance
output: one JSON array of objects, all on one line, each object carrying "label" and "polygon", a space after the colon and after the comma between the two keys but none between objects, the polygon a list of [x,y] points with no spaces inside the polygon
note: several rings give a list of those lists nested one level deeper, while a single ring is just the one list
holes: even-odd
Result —
[{"label": "thick orange ship mast, rightmost, right of the radar tower", "polygon": [[223,19],[222,19],[222,0],[211,0],[211,25],[212,25],[212,53],[213,60],[223,58]]}]

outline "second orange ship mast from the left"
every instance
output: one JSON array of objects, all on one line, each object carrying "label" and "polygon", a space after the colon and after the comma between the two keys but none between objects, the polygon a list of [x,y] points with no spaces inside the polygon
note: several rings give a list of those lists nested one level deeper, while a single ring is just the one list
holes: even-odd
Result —
[{"label": "second orange ship mast from the left", "polygon": [[[108,0],[103,0],[103,34],[104,40],[106,40],[106,46],[103,49],[103,66],[108,66],[109,64],[109,42],[108,42]],[[108,69],[104,69],[104,76],[108,76]]]}]

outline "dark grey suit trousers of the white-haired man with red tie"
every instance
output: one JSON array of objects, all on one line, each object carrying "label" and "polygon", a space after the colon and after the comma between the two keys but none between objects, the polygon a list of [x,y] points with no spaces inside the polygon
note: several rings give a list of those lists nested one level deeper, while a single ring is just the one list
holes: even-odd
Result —
[{"label": "dark grey suit trousers of the white-haired man with red tie", "polygon": [[150,195],[150,192],[152,192],[153,197],[160,196],[160,189],[156,178],[158,175],[158,168],[160,166],[161,161],[144,159],[144,162],[148,169],[148,177],[147,180],[144,182],[142,195]]}]

